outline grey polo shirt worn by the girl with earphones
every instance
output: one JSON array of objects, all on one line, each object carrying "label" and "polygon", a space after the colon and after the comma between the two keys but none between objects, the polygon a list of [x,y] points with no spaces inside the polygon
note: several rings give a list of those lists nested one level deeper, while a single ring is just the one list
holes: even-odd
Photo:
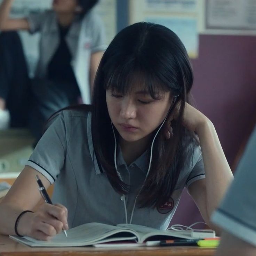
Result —
[{"label": "grey polo shirt worn by the girl with earphones", "polygon": [[[51,184],[55,182],[53,202],[67,207],[70,227],[89,222],[112,225],[126,222],[122,195],[112,188],[96,161],[91,137],[91,113],[62,111],[40,139],[27,165],[38,170]],[[127,166],[119,147],[118,170],[131,186],[126,195],[128,222],[148,165],[145,152]],[[139,208],[136,205],[132,224],[167,229],[183,188],[202,178],[205,178],[205,171],[201,149],[196,146],[181,171],[169,202],[159,209]]]}]

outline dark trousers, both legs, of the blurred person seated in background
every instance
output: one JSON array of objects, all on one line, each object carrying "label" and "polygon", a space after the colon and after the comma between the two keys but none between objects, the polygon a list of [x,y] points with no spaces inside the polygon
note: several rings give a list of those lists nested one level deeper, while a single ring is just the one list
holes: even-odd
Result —
[{"label": "dark trousers, both legs, of the blurred person seated in background", "polygon": [[[76,85],[77,86],[77,85]],[[29,79],[17,32],[0,33],[0,98],[6,100],[11,127],[27,127],[38,141],[47,119],[56,111],[77,104],[73,85]]]}]

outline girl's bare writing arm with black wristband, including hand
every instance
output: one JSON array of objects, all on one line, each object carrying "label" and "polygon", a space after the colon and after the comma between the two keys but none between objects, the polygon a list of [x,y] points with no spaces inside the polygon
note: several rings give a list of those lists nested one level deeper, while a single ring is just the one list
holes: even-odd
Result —
[{"label": "girl's bare writing arm with black wristband, including hand", "polygon": [[[30,166],[25,166],[13,186],[0,203],[0,233],[16,235],[14,230],[18,215],[24,210],[33,210],[41,199],[38,175],[47,189],[48,179]],[[62,205],[44,203],[35,213],[25,213],[19,219],[17,231],[20,235],[30,236],[39,240],[49,240],[52,236],[68,229],[67,209]]]}]

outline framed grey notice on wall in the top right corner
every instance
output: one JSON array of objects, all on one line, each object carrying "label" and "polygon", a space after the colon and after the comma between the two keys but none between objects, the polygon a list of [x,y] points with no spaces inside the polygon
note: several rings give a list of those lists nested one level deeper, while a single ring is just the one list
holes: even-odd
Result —
[{"label": "framed grey notice on wall in the top right corner", "polygon": [[256,0],[206,0],[206,32],[256,35]]}]

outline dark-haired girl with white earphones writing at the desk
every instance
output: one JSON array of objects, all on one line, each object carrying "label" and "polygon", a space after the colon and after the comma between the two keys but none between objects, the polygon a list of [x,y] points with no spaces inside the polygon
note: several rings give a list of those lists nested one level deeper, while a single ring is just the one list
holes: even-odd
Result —
[{"label": "dark-haired girl with white earphones writing at the desk", "polygon": [[[119,32],[99,65],[92,106],[49,121],[0,204],[0,232],[15,234],[16,223],[19,235],[47,240],[88,222],[164,230],[185,186],[211,225],[233,176],[213,124],[187,103],[192,83],[174,32],[151,23]],[[17,221],[41,198],[35,175],[46,187],[55,182],[57,204]]]}]

